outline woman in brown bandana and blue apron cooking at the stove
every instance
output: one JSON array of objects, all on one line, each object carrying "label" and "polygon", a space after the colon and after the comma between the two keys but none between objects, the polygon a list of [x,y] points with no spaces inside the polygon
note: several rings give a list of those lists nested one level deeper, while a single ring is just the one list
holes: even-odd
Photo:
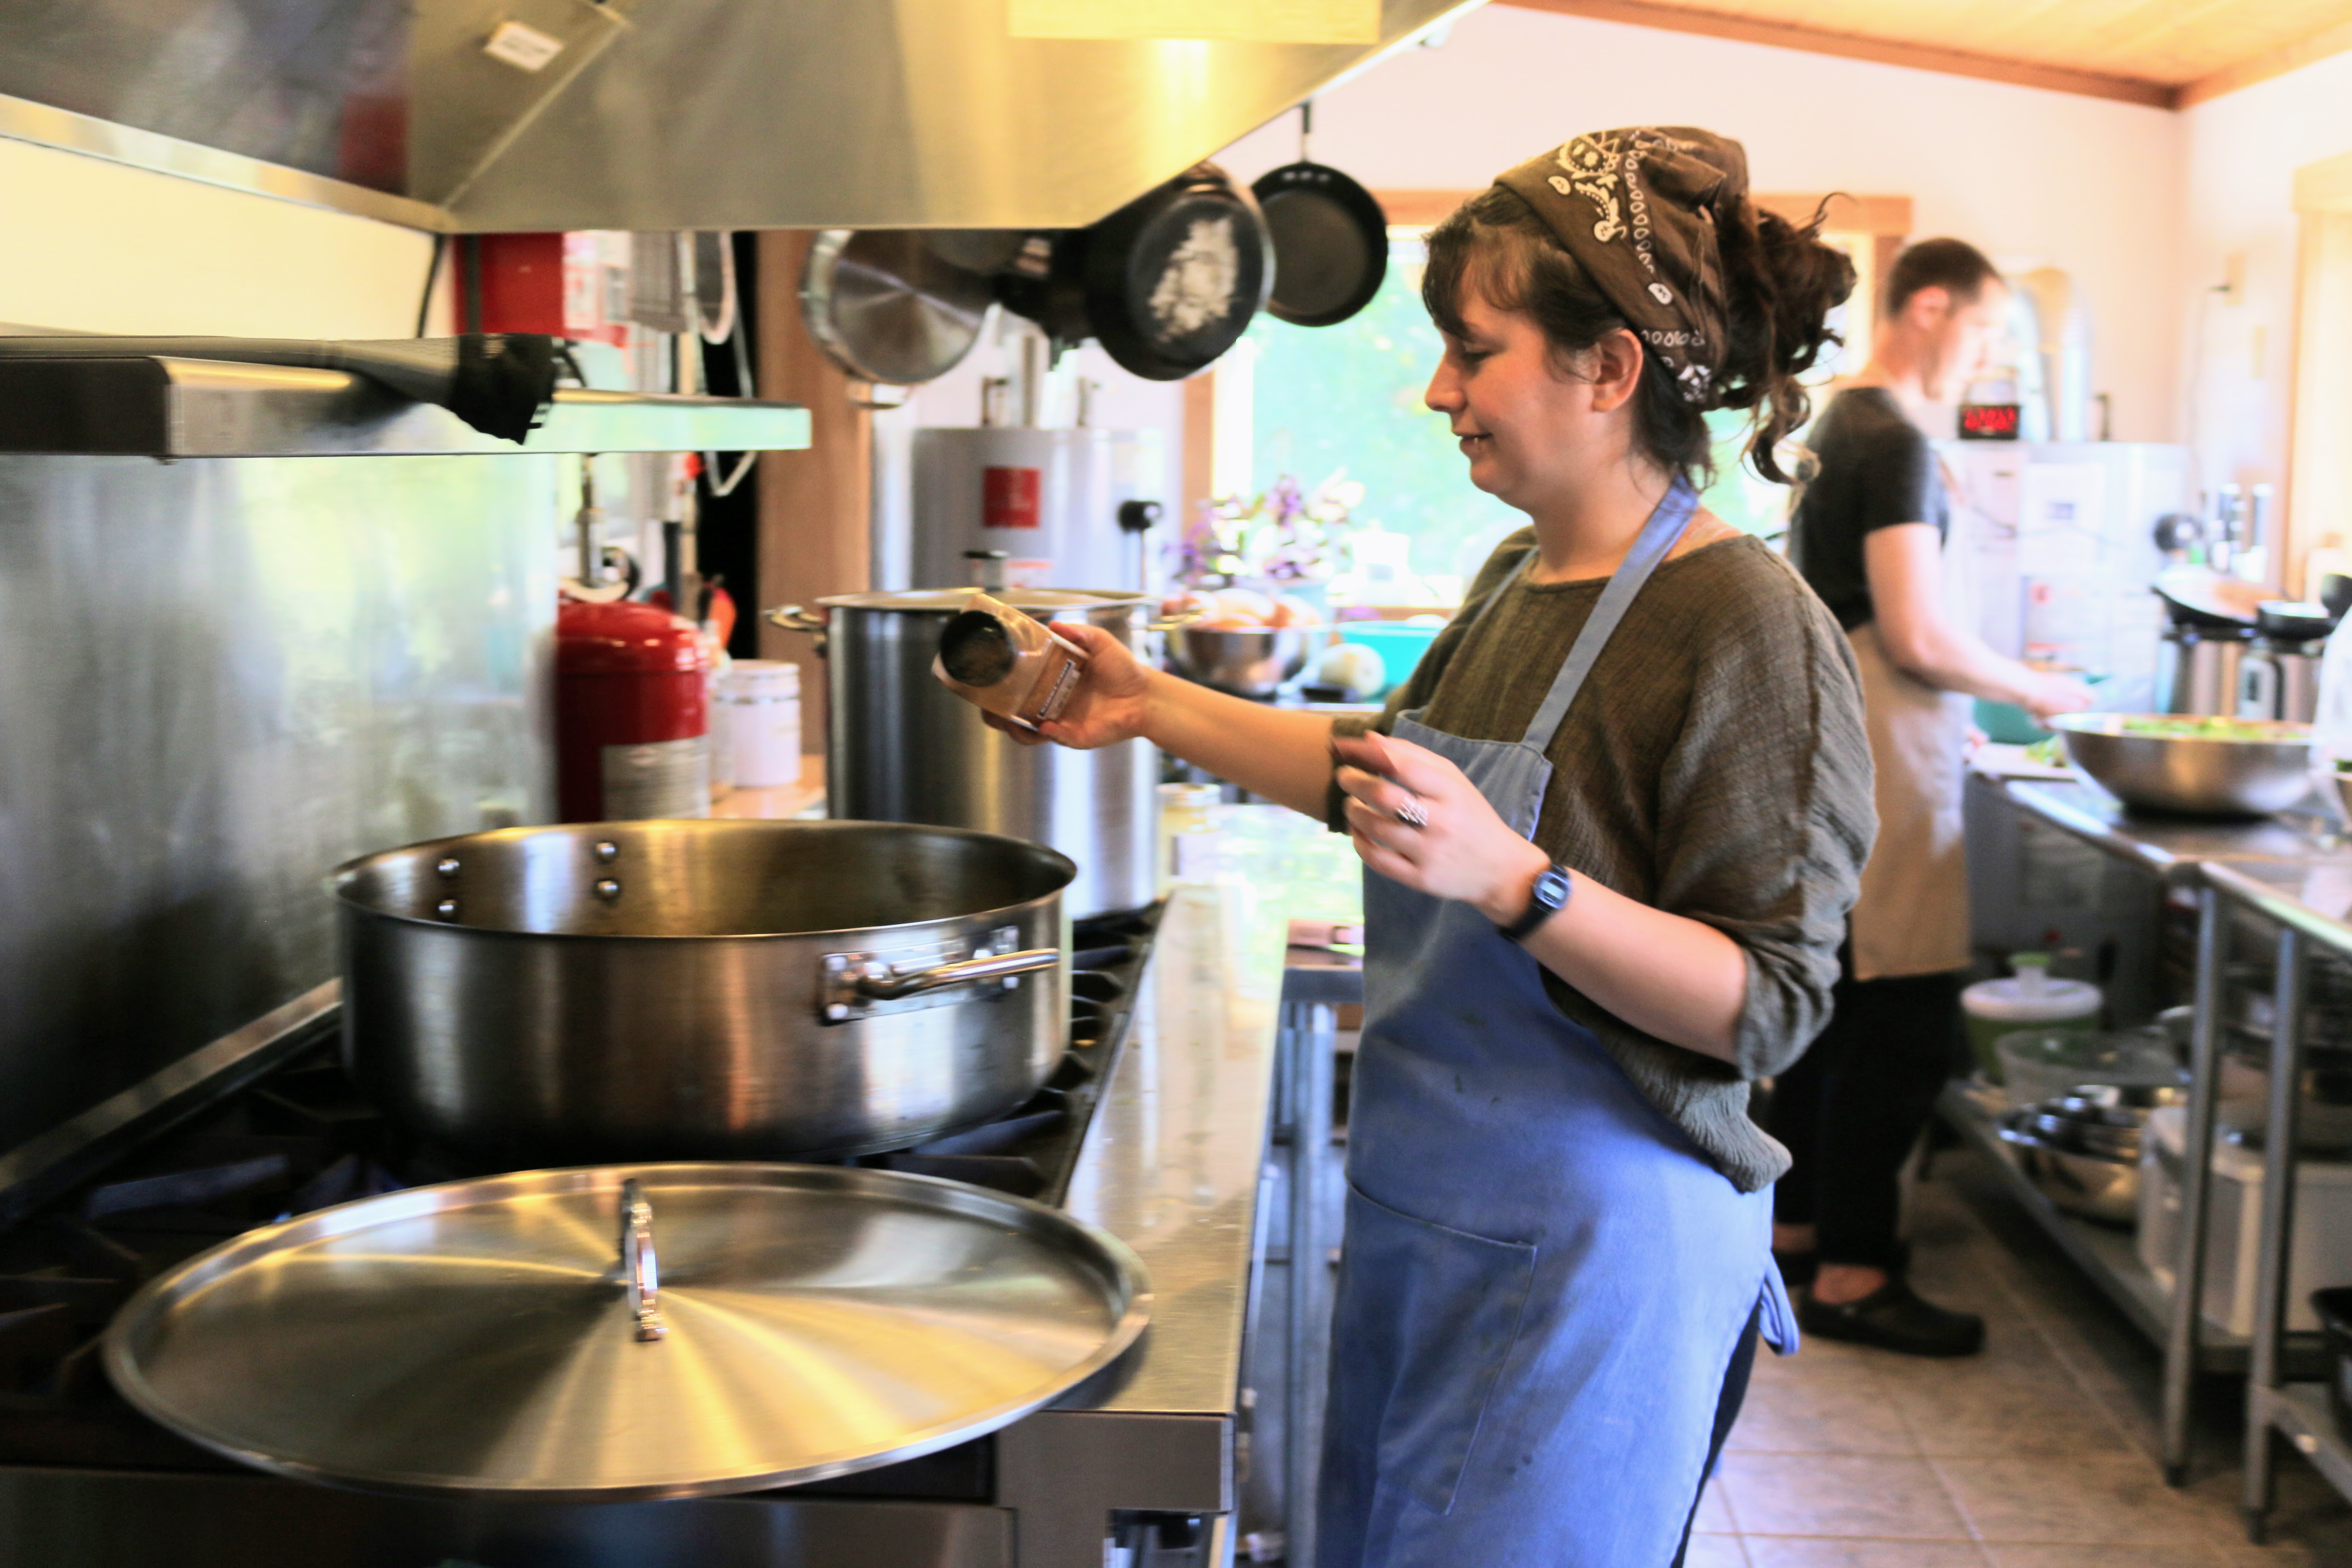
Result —
[{"label": "woman in brown bandana and blue apron cooking at the stove", "polygon": [[1795,1347],[1748,1081],[1825,1018],[1870,752],[1837,623],[1693,475],[1729,407],[1778,477],[1853,275],[1745,188],[1736,141],[1597,132],[1430,233],[1428,404],[1531,527],[1369,733],[1058,628],[1091,668],[1044,736],[1364,858],[1331,1568],[1679,1563],[1759,1324]]}]

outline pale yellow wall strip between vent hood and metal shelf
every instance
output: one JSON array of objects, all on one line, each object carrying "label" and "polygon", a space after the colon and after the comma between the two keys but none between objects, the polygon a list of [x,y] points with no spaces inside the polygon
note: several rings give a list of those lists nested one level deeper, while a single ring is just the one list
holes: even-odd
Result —
[{"label": "pale yellow wall strip between vent hood and metal shelf", "polygon": [[433,237],[0,141],[0,322],[56,331],[405,339]]}]

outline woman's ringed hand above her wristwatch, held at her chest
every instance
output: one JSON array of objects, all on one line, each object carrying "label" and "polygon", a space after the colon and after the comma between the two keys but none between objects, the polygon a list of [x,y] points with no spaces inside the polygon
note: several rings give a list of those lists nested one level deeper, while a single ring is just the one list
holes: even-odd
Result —
[{"label": "woman's ringed hand above her wristwatch, held at her chest", "polygon": [[1496,816],[1458,766],[1388,736],[1334,736],[1331,755],[1364,865],[1432,898],[1475,905],[1498,926],[1526,912],[1550,860]]}]

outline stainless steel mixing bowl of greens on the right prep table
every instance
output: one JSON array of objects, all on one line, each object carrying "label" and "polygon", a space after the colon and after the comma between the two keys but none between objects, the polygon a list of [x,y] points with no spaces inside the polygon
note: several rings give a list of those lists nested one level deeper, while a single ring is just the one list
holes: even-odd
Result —
[{"label": "stainless steel mixing bowl of greens on the right prep table", "polygon": [[[2284,811],[2312,788],[2312,726],[2232,719],[2232,736],[2129,733],[2136,719],[2178,715],[2067,712],[2051,719],[2067,762],[2126,806],[2194,816]],[[2246,736],[2246,738],[2237,738]]]}]

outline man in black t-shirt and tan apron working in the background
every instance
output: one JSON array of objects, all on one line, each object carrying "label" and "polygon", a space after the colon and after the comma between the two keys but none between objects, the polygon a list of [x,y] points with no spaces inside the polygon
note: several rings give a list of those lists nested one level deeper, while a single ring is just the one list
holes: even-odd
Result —
[{"label": "man in black t-shirt and tan apron working in the background", "polygon": [[2034,717],[2089,691],[1994,654],[1945,609],[1950,501],[1922,418],[1955,402],[2009,310],[1973,244],[1922,240],[1886,275],[1870,362],[1813,423],[1818,473],[1790,562],[1830,607],[1863,670],[1879,837],[1842,954],[1835,1016],[1780,1074],[1766,1131],[1795,1154],[1773,1197],[1773,1253],[1804,1333],[1915,1356],[1966,1356],[1985,1324],[1922,1300],[1903,1276],[1898,1175],[1959,1041],[1969,875],[1959,830],[1969,698]]}]

